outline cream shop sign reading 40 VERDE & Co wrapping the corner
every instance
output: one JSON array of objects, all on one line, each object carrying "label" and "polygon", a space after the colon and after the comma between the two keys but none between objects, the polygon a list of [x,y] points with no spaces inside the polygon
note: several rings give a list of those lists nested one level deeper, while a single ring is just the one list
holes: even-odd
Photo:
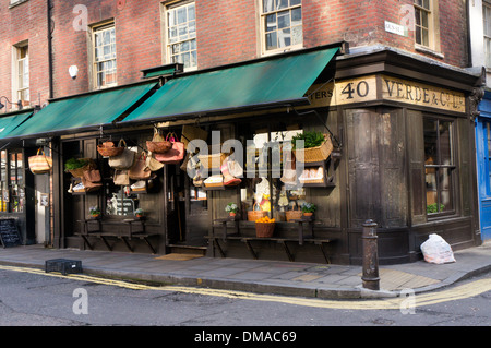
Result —
[{"label": "cream shop sign reading 40 VERDE & Co wrapping the corner", "polygon": [[392,100],[466,112],[465,96],[460,92],[386,75],[370,75],[313,85],[306,95],[311,103],[310,107]]}]

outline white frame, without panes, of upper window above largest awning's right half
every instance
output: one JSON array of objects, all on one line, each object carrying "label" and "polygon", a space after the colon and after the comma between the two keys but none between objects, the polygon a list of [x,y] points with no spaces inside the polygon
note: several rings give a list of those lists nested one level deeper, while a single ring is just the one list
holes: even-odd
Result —
[{"label": "white frame, without panes, of upper window above largest awning's right half", "polygon": [[[261,35],[261,55],[262,56],[268,56],[268,55],[275,55],[275,53],[280,53],[284,51],[289,51],[289,50],[296,50],[296,49],[301,49],[303,48],[303,13],[302,13],[302,1],[300,0],[295,1],[298,3],[292,4],[290,1],[292,0],[268,0],[273,8],[272,9],[265,9],[265,2],[266,0],[259,0],[259,9],[260,9],[260,35]],[[286,3],[286,7],[278,9],[279,3]],[[298,11],[300,10],[300,14],[301,14],[301,20],[300,20],[300,24],[297,25],[291,25],[291,11]],[[291,37],[291,28],[294,27],[300,27],[301,28],[301,38],[299,39],[299,43],[297,44],[291,44],[288,46],[283,46],[283,47],[278,47],[277,48],[273,48],[273,49],[267,49],[267,39],[266,39],[266,35],[268,33],[279,33],[279,24],[278,24],[278,13],[283,13],[285,11],[289,12],[289,25],[285,26],[284,28],[289,28],[290,29],[290,37]],[[276,14],[275,17],[275,29],[271,31],[271,32],[266,32],[266,19],[273,14]],[[277,43],[279,43],[279,40],[276,38]]]}]

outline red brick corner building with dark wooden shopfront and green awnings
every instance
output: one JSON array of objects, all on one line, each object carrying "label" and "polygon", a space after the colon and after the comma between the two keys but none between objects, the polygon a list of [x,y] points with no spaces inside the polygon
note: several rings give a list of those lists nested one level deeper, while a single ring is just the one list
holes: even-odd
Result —
[{"label": "red brick corner building with dark wooden shopfront and green awnings", "polygon": [[[382,263],[418,260],[432,232],[457,249],[481,242],[472,98],[482,73],[467,69],[462,1],[21,0],[1,7],[3,23],[19,24],[1,37],[9,53],[0,56],[0,94],[13,103],[3,120],[13,125],[0,136],[8,166],[20,164],[23,172],[7,177],[5,197],[10,203],[24,189],[28,221],[46,213],[35,196],[49,194],[44,236],[56,248],[194,248],[216,256],[357,264],[367,219],[378,223]],[[16,110],[26,95],[21,81],[28,81],[33,109]],[[201,130],[208,144],[237,140],[233,154],[247,158],[251,151],[255,161],[241,165],[256,175],[207,187],[181,160],[118,184],[119,172],[97,151],[122,139],[140,159],[154,134],[187,144],[190,130],[193,139]],[[283,154],[308,132],[327,134],[333,148],[302,165],[319,181],[297,171],[303,185],[291,185],[275,176],[276,165],[283,175],[286,169],[285,160],[274,163],[275,146]],[[28,170],[27,157],[39,146],[52,156],[50,175]],[[221,149],[230,157],[231,148]],[[11,157],[15,151],[21,157]],[[188,154],[197,158],[191,148]],[[264,161],[262,154],[270,154]],[[99,171],[94,190],[74,190],[80,180],[67,165],[79,158]],[[239,217],[228,217],[228,203],[240,207]],[[304,203],[318,207],[312,220],[287,218]],[[89,218],[94,206],[101,218]],[[145,219],[133,218],[139,208]],[[275,218],[274,238],[255,237],[249,212]],[[24,240],[39,241],[23,228]]]}]

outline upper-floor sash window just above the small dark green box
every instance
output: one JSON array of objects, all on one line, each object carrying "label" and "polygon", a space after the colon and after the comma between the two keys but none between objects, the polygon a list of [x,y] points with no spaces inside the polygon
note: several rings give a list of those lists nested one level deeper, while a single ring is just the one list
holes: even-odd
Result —
[{"label": "upper-floor sash window just above the small dark green box", "polygon": [[184,69],[197,67],[194,2],[167,10],[167,57],[169,63],[182,63]]}]

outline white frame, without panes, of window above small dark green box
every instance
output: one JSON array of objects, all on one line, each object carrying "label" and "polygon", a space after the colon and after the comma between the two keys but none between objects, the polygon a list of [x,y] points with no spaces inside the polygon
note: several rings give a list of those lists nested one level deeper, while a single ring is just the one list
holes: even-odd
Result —
[{"label": "white frame, without panes, of window above small dark green box", "polygon": [[[189,14],[192,13],[190,11],[190,8],[194,7],[194,19],[189,20]],[[179,24],[177,23],[169,23],[169,16],[170,13],[175,13],[173,15],[177,17],[177,11],[185,11],[185,21],[180,23],[180,26],[182,28],[185,28],[187,34],[183,35],[181,38],[179,35]],[[191,32],[190,28],[193,27],[194,22],[194,32]],[[196,29],[196,5],[194,1],[184,1],[184,2],[178,2],[173,3],[168,7],[164,7],[164,23],[165,23],[165,38],[166,38],[166,61],[167,63],[183,63],[184,64],[184,71],[192,71],[197,70],[197,29]],[[176,24],[176,25],[172,25]],[[170,32],[176,29],[176,37],[170,37]],[[182,48],[184,48],[182,50]],[[187,48],[187,49],[185,49]],[[175,51],[175,49],[179,49],[178,51]],[[182,52],[189,52],[189,62],[190,64],[185,64],[184,61],[181,59],[175,60],[173,57],[178,57]],[[194,55],[194,58],[193,58]]]}]

